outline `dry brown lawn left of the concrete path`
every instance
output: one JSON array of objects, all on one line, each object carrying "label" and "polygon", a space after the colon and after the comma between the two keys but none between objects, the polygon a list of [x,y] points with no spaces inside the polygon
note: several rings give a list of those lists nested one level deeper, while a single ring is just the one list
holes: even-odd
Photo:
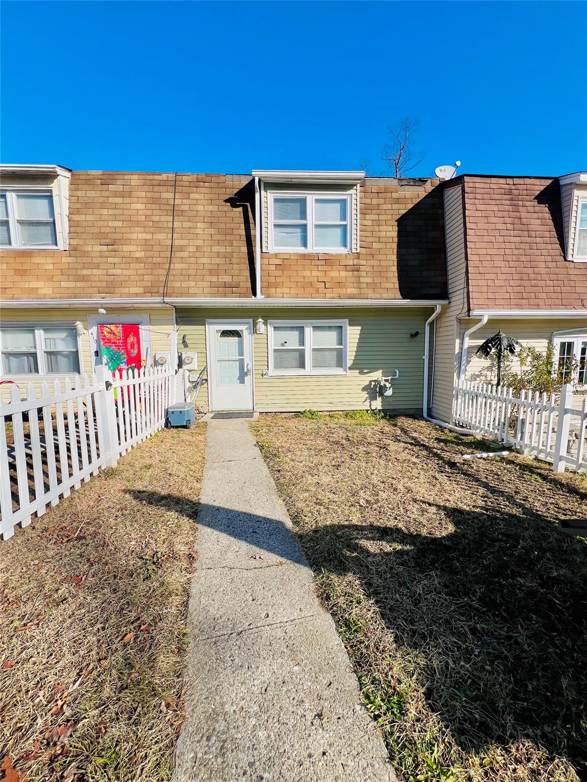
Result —
[{"label": "dry brown lawn left of the concrete path", "polygon": [[27,782],[170,776],[204,447],[160,432],[0,543],[0,766]]}]

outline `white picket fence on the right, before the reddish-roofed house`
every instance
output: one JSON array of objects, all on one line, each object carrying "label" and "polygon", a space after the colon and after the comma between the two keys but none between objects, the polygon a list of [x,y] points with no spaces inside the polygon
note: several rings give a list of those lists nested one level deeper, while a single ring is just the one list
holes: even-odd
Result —
[{"label": "white picket fence on the right, before the reddish-roofed house", "polygon": [[552,462],[556,472],[587,472],[587,396],[573,407],[573,387],[559,395],[466,381],[455,389],[453,420],[527,456]]}]

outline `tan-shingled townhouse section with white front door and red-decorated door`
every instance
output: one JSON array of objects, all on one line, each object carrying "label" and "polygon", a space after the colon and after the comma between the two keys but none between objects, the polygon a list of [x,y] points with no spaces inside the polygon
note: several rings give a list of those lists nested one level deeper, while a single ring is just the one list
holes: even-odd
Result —
[{"label": "tan-shingled townhouse section with white front door and red-decorated door", "polygon": [[178,350],[207,366],[204,408],[421,411],[424,325],[447,303],[438,180],[1,173],[3,379]]}]

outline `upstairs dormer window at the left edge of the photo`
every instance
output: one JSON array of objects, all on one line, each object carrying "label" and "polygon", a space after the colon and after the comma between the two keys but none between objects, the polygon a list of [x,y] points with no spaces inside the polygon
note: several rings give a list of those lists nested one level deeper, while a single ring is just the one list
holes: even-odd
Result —
[{"label": "upstairs dormer window at the left edge of the photo", "polygon": [[58,249],[52,190],[0,191],[0,246]]}]

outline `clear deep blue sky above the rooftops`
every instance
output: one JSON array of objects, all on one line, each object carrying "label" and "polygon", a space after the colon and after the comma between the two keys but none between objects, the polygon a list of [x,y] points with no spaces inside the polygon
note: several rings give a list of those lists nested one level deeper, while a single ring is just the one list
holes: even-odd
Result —
[{"label": "clear deep blue sky above the rooftops", "polygon": [[384,172],[587,168],[585,2],[3,2],[2,161]]}]

